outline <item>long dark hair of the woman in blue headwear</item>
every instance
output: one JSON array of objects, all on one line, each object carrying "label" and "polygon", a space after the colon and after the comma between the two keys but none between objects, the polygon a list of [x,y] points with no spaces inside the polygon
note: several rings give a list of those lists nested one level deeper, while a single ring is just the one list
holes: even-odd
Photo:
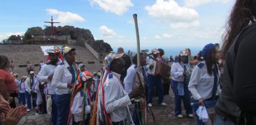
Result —
[{"label": "long dark hair of the woman in blue headwear", "polygon": [[[207,73],[209,75],[212,75],[213,74],[213,66],[215,69],[217,69],[217,62],[215,61],[215,47],[211,47],[209,48],[209,50],[207,51],[206,53],[206,68],[207,68]],[[217,70],[216,70],[217,71]]]}]

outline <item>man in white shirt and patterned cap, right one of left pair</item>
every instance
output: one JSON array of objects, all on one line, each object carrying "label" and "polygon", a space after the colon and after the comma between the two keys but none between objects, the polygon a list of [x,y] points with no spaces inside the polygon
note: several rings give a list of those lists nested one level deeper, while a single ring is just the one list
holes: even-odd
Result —
[{"label": "man in white shirt and patterned cap, right one of left pair", "polygon": [[75,50],[69,46],[63,48],[64,62],[55,68],[52,78],[52,87],[55,87],[54,101],[57,105],[57,125],[68,123],[71,89],[78,75]]}]

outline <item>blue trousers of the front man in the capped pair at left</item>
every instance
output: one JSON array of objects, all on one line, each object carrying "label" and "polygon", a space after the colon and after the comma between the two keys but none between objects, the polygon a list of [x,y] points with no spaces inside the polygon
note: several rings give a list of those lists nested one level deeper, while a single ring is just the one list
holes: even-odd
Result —
[{"label": "blue trousers of the front man in the capped pair at left", "polygon": [[55,104],[57,107],[57,123],[56,125],[65,125],[69,119],[71,94],[55,94]]}]

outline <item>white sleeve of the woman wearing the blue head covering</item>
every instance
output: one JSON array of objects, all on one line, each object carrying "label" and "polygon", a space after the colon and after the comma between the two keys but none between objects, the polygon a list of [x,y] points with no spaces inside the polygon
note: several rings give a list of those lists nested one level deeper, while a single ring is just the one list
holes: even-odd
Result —
[{"label": "white sleeve of the woman wearing the blue head covering", "polygon": [[190,83],[188,84],[188,89],[190,90],[192,96],[197,100],[201,98],[200,94],[197,91],[197,84],[200,82],[200,75],[201,73],[199,67],[194,67],[190,77]]}]

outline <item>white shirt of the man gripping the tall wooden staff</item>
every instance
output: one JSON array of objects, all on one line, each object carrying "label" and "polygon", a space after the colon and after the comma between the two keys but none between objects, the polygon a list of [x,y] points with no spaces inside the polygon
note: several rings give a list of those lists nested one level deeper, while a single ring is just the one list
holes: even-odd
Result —
[{"label": "white shirt of the man gripping the tall wooden staff", "polygon": [[106,112],[111,115],[112,122],[121,122],[127,117],[127,105],[131,105],[131,101],[122,88],[120,74],[112,73],[113,78],[107,77],[104,83]]}]

